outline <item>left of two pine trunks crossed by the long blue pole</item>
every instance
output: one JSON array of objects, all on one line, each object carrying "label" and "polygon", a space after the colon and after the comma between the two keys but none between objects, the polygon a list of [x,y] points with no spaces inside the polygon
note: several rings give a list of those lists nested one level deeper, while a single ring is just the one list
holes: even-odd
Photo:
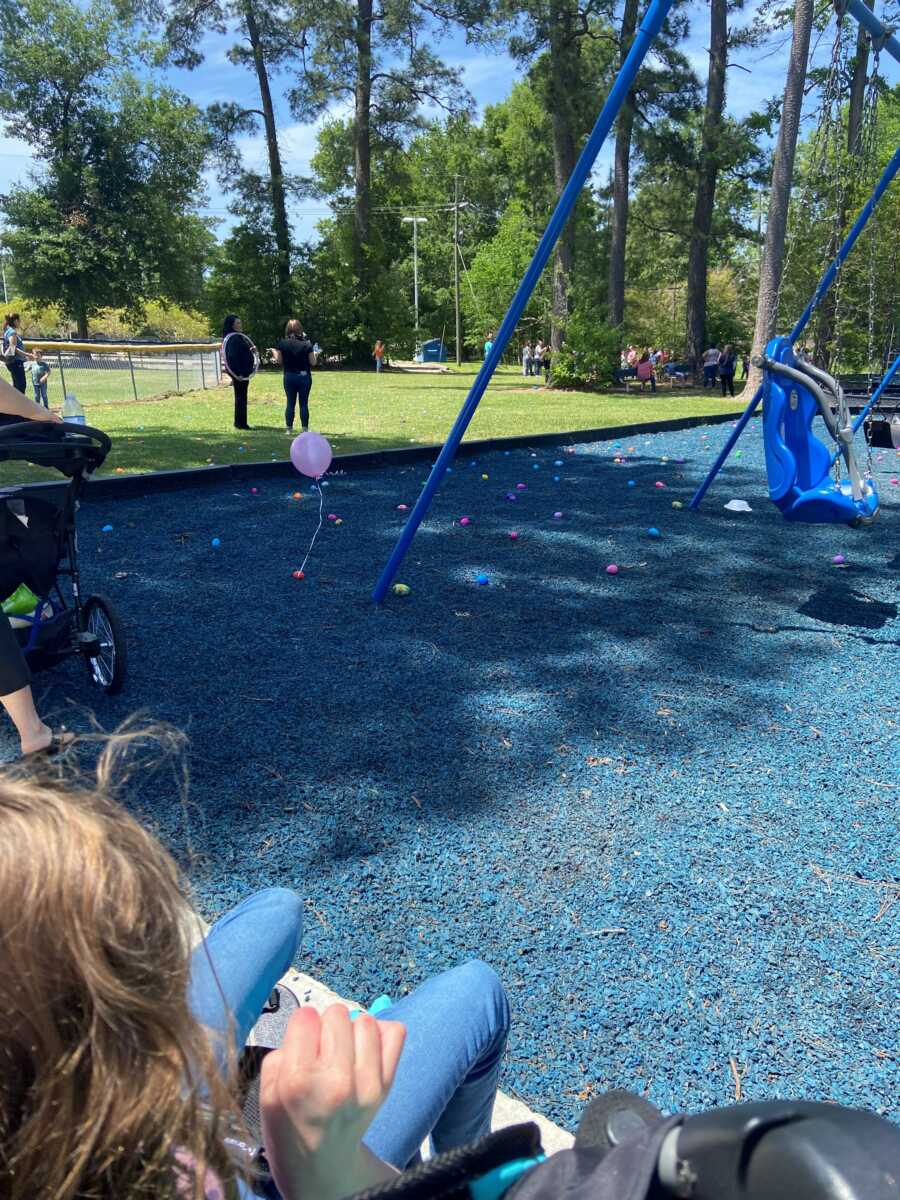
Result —
[{"label": "left of two pine trunks crossed by the long blue pole", "polygon": [[[570,0],[554,0],[550,23],[550,104],[553,114],[553,179],[562,196],[575,169],[572,80],[578,77],[578,41]],[[575,212],[566,221],[553,253],[553,322],[550,344],[558,352],[569,317],[569,287],[575,266]]]}]

